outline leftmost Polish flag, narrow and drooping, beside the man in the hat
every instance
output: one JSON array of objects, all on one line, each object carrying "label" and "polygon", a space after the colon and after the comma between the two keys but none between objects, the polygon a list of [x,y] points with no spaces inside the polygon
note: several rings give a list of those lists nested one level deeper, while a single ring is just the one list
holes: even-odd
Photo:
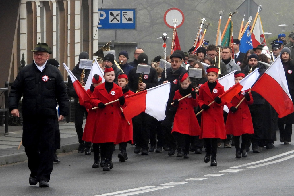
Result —
[{"label": "leftmost Polish flag, narrow and drooping, beside the man in the hat", "polygon": [[[80,81],[76,79],[74,74],[71,72],[71,70],[66,66],[65,63],[63,63],[64,68],[69,73],[69,76],[71,77],[71,81],[73,83],[74,89],[76,90],[76,94],[78,95],[78,100],[80,102],[80,105],[84,104],[84,101],[90,100],[90,95],[87,93],[87,91],[82,87]],[[92,79],[91,79],[92,81]]]}]

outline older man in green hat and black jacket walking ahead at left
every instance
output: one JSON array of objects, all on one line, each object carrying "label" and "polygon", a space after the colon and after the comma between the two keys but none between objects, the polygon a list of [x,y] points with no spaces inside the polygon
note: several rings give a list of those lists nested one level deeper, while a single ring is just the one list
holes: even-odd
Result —
[{"label": "older man in green hat and black jacket walking ahead at left", "polygon": [[[21,96],[23,114],[22,142],[31,170],[29,184],[49,187],[53,169],[54,131],[58,121],[68,114],[68,96],[64,79],[54,65],[47,62],[51,49],[38,43],[33,63],[23,67],[14,80],[9,94],[9,111],[19,117],[18,103]],[[56,106],[60,115],[57,119]]]}]

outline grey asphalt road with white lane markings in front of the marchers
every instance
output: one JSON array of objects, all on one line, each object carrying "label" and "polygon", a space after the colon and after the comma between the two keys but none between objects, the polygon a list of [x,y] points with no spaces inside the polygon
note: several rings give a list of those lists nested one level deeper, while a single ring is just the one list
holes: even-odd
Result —
[{"label": "grey asphalt road with white lane markings in front of the marchers", "polygon": [[235,149],[218,148],[218,166],[204,163],[204,154],[190,159],[167,152],[133,154],[110,172],[91,168],[93,155],[60,154],[49,188],[30,186],[27,162],[0,166],[0,195],[294,195],[294,146],[275,142],[275,149],[235,159]]}]

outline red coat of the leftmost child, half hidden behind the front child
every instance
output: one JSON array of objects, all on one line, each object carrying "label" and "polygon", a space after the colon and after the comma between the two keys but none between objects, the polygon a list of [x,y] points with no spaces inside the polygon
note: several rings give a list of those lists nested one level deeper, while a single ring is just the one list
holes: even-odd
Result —
[{"label": "red coat of the leftmost child, half hidden behind the front child", "polygon": [[[92,95],[92,91],[90,89],[87,90],[87,93]],[[85,142],[92,142],[92,136],[93,136],[93,129],[94,129],[94,122],[97,114],[97,109],[92,109],[93,106],[90,104],[90,100],[86,100],[83,105],[86,109],[89,109],[88,116],[86,119],[86,124],[84,128],[83,133],[83,141]],[[95,106],[96,107],[96,106]]]}]

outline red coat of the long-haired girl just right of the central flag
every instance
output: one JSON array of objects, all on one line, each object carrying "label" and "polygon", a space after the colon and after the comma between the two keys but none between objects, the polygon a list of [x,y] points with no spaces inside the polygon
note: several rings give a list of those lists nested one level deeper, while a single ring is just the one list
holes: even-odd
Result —
[{"label": "red coat of the long-haired girl just right of the central flag", "polygon": [[[183,96],[179,90],[176,90],[173,99],[180,99]],[[171,132],[178,132],[182,134],[188,134],[196,136],[200,134],[200,127],[195,116],[193,107],[197,107],[197,99],[193,99],[191,96],[182,99],[178,104],[178,109],[173,121],[173,129]]]}]

